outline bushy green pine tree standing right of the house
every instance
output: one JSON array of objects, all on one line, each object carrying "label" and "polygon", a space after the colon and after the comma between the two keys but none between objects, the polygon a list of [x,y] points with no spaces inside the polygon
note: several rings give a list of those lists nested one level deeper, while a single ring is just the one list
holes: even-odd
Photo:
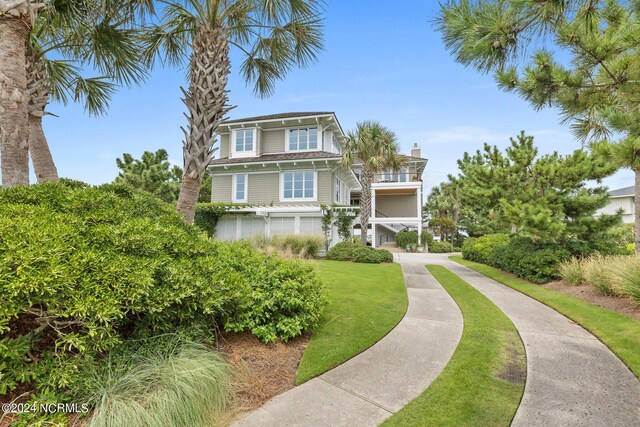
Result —
[{"label": "bushy green pine tree standing right of the house", "polygon": [[582,242],[601,237],[619,215],[594,217],[608,202],[605,188],[588,188],[612,168],[598,156],[576,150],[539,156],[533,137],[511,138],[503,152],[485,144],[465,153],[455,180],[469,235],[510,233],[536,240]]}]

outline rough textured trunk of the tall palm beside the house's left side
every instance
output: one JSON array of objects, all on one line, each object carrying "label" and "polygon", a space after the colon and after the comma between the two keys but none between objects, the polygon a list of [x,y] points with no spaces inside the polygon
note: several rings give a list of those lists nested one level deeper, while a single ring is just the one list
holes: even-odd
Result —
[{"label": "rough textured trunk of the tall palm beside the house's left side", "polygon": [[217,150],[214,133],[230,110],[226,87],[231,69],[227,35],[221,28],[199,28],[192,48],[189,90],[182,89],[189,124],[188,130],[182,129],[184,172],[176,208],[189,223],[193,223],[200,184]]}]

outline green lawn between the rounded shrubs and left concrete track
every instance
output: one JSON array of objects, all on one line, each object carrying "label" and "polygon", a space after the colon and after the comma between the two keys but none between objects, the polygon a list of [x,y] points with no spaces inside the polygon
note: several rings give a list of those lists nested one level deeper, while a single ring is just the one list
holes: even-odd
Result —
[{"label": "green lawn between the rounded shrubs and left concrete track", "polygon": [[300,361],[298,384],[371,347],[407,311],[407,291],[398,264],[316,263],[329,304]]}]

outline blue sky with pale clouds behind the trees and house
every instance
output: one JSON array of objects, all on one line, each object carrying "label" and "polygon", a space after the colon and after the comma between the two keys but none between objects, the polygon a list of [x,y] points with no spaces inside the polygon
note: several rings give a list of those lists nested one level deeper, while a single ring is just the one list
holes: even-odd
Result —
[{"label": "blue sky with pale clouds behind the trees and house", "polygon": [[[445,50],[433,20],[437,1],[327,0],[325,50],[316,64],[295,69],[267,99],[253,95],[232,52],[230,118],[293,111],[334,111],[343,129],[377,120],[398,136],[404,153],[414,143],[429,159],[425,193],[456,174],[456,160],[484,142],[501,148],[524,130],[540,153],[580,148],[554,110],[536,112],[517,95],[497,88],[491,76],[466,69]],[[52,104],[44,130],[62,177],[100,184],[118,174],[116,158],[164,148],[182,166],[186,126],[180,86],[184,68],[157,68],[140,87],[122,88],[108,114],[89,117],[80,105]],[[33,181],[33,177],[32,177]],[[606,178],[610,189],[633,185],[621,170]]]}]

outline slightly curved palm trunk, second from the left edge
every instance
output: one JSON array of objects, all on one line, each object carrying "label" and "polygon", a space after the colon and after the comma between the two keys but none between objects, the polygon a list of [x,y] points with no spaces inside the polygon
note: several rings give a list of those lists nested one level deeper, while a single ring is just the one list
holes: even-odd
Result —
[{"label": "slightly curved palm trunk, second from the left edge", "polygon": [[40,56],[27,51],[27,93],[29,94],[29,154],[38,182],[57,181],[58,170],[42,129],[42,117],[49,103],[49,84]]}]

